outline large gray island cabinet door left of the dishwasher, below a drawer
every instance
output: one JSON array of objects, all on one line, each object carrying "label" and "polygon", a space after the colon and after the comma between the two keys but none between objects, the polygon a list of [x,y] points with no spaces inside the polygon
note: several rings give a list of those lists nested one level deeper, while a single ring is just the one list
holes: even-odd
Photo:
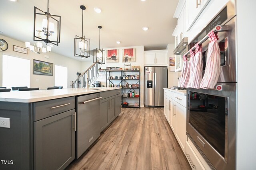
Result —
[{"label": "large gray island cabinet door left of the dishwasher, below a drawer", "polygon": [[34,122],[34,169],[64,169],[75,158],[75,109]]}]

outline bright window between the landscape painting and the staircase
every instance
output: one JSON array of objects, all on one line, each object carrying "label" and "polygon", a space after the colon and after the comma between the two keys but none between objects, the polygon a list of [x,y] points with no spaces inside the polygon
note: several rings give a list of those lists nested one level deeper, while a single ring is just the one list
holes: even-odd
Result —
[{"label": "bright window between the landscape painting and the staircase", "polygon": [[68,88],[68,68],[55,65],[55,86]]}]

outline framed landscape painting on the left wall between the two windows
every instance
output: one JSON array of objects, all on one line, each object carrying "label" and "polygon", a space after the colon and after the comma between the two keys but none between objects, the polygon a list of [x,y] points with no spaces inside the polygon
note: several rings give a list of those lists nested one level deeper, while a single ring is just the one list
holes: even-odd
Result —
[{"label": "framed landscape painting on the left wall between the two windows", "polygon": [[53,63],[33,59],[33,74],[53,75]]}]

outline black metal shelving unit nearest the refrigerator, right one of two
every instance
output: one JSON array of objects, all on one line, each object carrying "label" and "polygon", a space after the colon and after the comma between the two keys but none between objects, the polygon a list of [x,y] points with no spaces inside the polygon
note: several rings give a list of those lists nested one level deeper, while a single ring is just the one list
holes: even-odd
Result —
[{"label": "black metal shelving unit nearest the refrigerator, right one of two", "polygon": [[[138,94],[139,97],[124,97],[122,95],[122,107],[132,107],[132,108],[140,108],[140,71],[139,70],[123,70],[122,71],[122,74],[123,74],[123,79],[122,79],[122,94],[126,94],[130,91],[134,91],[135,94]],[[130,76],[129,76],[130,75]],[[132,75],[133,78],[132,78]],[[135,75],[138,77],[138,78],[134,78]],[[129,79],[128,79],[128,76],[129,76]],[[126,78],[127,77],[127,78]],[[138,84],[138,88],[137,87],[127,87],[126,88],[126,83],[127,84]],[[138,106],[135,106],[134,103],[131,104],[129,103],[128,106],[123,106],[123,103],[126,102],[126,99],[134,99],[134,102],[138,102]]]}]

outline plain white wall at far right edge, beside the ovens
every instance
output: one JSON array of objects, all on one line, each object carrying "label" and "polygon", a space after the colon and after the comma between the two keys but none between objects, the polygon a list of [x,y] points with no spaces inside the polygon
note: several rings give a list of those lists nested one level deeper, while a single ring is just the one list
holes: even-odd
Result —
[{"label": "plain white wall at far right edge, beside the ovens", "polygon": [[236,1],[237,10],[237,147],[236,169],[255,170],[256,167],[256,1]]}]

